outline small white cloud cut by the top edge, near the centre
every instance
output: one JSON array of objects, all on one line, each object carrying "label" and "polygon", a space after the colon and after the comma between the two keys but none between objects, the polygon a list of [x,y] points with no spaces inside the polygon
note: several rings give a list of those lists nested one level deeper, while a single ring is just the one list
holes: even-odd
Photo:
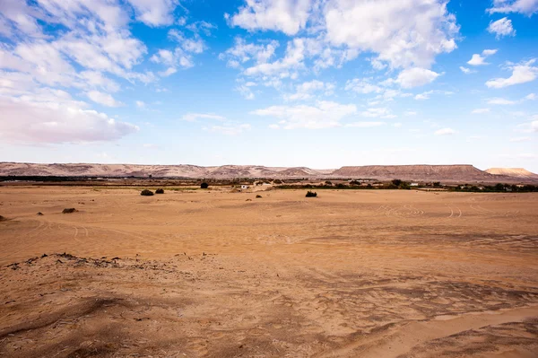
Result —
[{"label": "small white cloud cut by the top edge, near the centre", "polygon": [[230,22],[250,31],[273,30],[295,35],[307,25],[310,0],[247,0]]}]

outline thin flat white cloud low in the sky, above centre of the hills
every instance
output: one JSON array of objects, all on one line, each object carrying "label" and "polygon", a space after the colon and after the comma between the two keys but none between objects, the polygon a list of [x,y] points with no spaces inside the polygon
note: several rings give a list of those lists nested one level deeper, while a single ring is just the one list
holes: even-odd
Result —
[{"label": "thin flat white cloud low in the sky, above centre of the hills", "polygon": [[340,104],[334,101],[318,101],[316,106],[271,106],[257,109],[251,114],[279,120],[279,127],[285,129],[319,129],[341,126],[340,121],[357,113],[353,104]]}]

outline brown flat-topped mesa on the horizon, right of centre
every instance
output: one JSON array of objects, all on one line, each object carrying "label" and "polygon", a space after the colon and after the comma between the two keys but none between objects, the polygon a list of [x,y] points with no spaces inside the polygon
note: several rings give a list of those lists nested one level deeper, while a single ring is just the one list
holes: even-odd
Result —
[{"label": "brown flat-topped mesa on the horizon, right of centre", "polygon": [[490,173],[469,164],[456,165],[365,165],[342,167],[334,176],[372,179],[488,181]]}]

